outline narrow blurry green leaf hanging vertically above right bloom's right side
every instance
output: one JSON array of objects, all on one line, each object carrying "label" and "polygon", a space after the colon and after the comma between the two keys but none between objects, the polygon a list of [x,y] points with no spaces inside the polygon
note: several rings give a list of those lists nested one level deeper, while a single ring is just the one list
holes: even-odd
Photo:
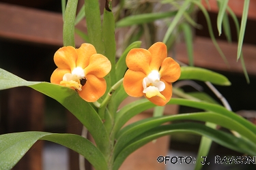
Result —
[{"label": "narrow blurry green leaf hanging vertically above right bloom's right side", "polygon": [[186,23],[180,24],[180,27],[184,33],[184,39],[186,42],[186,51],[188,54],[188,63],[190,66],[194,65],[194,58],[193,58],[193,33],[190,29],[190,26]]}]

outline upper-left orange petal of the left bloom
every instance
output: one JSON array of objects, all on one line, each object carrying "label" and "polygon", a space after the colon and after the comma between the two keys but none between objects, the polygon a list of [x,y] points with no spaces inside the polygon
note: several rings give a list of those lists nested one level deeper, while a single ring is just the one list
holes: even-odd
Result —
[{"label": "upper-left orange petal of the left bloom", "polygon": [[53,60],[60,69],[71,69],[76,67],[77,52],[72,46],[59,48],[55,52]]}]

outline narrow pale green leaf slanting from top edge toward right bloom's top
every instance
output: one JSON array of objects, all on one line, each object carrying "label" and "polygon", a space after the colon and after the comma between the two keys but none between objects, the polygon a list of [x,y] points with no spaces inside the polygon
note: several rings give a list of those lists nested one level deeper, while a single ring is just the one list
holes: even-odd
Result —
[{"label": "narrow pale green leaf slanting from top edge toward right bloom's top", "polygon": [[184,14],[184,12],[186,12],[188,5],[190,5],[190,2],[191,2],[191,0],[186,0],[186,1],[184,1],[184,3],[182,3],[182,6],[177,11],[177,14],[175,14],[175,17],[171,21],[171,24],[170,24],[169,28],[167,29],[167,32],[165,33],[165,37],[162,40],[163,43],[167,43],[171,33],[173,33],[173,30],[177,26],[177,23],[180,21],[180,18],[182,18],[182,15]]}]

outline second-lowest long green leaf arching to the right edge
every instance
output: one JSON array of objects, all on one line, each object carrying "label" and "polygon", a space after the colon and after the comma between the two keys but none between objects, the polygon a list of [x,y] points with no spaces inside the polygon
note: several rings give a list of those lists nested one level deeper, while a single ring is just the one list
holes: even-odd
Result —
[{"label": "second-lowest long green leaf arching to the right edge", "polygon": [[[232,116],[233,117],[233,116]],[[256,135],[251,131],[251,129],[247,129],[240,122],[233,120],[228,116],[224,116],[223,114],[218,114],[214,112],[202,112],[202,113],[193,113],[193,114],[177,114],[172,116],[162,116],[158,118],[147,118],[145,120],[140,120],[138,122],[134,122],[124,127],[117,134],[117,143],[115,145],[114,154],[118,155],[121,150],[127,146],[134,137],[138,137],[141,133],[150,130],[160,124],[170,121],[176,120],[197,120],[203,122],[212,122],[214,124],[218,124],[227,129],[237,131],[240,135],[246,137],[255,143],[256,148]]]}]

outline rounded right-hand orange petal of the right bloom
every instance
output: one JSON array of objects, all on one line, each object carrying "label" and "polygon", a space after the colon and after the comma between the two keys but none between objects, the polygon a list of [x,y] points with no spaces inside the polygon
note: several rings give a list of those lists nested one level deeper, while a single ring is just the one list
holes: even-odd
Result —
[{"label": "rounded right-hand orange petal of the right bloom", "polygon": [[159,71],[161,78],[167,82],[175,82],[180,78],[180,65],[171,57],[165,58]]}]

